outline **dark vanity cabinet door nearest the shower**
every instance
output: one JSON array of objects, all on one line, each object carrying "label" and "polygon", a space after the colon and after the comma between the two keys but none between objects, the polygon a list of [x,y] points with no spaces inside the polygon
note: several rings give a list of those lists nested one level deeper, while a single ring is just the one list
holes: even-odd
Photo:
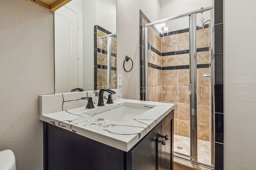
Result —
[{"label": "dark vanity cabinet door nearest the shower", "polygon": [[173,170],[173,124],[174,124],[174,111],[167,115],[161,121],[161,135],[164,137],[168,135],[169,139],[166,140],[166,145],[161,145],[161,170]]}]

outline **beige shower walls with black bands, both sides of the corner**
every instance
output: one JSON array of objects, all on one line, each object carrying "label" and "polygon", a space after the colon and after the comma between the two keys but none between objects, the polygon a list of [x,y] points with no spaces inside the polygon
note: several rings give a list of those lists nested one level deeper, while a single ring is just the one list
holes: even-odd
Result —
[{"label": "beige shower walls with black bands, both sides of the corner", "polygon": [[[142,17],[142,24],[148,23]],[[190,136],[189,32],[173,31],[160,36],[148,27],[148,100],[175,103],[174,134]],[[210,74],[209,28],[197,30],[198,66],[198,139],[210,139]]]}]

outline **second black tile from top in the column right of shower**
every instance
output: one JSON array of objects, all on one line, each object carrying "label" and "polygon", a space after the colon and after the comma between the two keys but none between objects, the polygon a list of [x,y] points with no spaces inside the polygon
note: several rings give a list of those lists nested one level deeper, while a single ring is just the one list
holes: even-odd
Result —
[{"label": "second black tile from top in the column right of shower", "polygon": [[214,25],[214,53],[221,54],[223,53],[223,23]]}]

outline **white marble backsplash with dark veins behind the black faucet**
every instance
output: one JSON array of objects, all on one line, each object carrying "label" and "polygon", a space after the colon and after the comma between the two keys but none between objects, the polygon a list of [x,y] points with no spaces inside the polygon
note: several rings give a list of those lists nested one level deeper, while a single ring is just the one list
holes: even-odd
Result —
[{"label": "white marble backsplash with dark veins behind the black faucet", "polygon": [[[112,94],[112,100],[118,100],[122,98],[122,89],[112,89],[116,94]],[[57,111],[63,111],[67,109],[73,109],[76,107],[85,107],[87,105],[87,99],[81,99],[82,97],[91,97],[94,106],[98,104],[99,90],[88,92],[72,92],[63,94],[50,94],[39,96],[39,114],[44,115]],[[108,100],[108,93],[103,95],[104,103]]]}]

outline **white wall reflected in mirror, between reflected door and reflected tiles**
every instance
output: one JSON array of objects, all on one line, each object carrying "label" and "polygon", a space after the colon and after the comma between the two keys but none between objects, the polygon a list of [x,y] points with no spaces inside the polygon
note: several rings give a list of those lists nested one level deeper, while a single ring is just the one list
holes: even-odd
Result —
[{"label": "white wall reflected in mirror, between reflected door and reflected tiles", "polygon": [[83,88],[94,90],[94,25],[116,32],[116,0],[83,0]]}]

